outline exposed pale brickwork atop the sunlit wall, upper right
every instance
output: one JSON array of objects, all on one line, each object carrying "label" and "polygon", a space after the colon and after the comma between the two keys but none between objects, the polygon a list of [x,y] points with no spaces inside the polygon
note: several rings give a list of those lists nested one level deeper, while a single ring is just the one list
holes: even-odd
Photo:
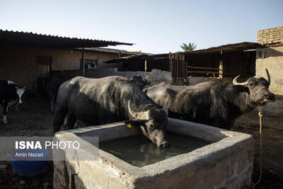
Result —
[{"label": "exposed pale brickwork atop the sunlit wall, upper right", "polygon": [[283,43],[283,26],[258,30],[257,42],[262,45]]}]

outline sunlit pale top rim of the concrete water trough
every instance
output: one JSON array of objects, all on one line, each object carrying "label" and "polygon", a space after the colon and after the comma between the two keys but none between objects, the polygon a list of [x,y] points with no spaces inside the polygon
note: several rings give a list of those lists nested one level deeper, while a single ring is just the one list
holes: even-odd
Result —
[{"label": "sunlit pale top rim of the concrete water trough", "polygon": [[[219,129],[217,127],[212,127],[209,125],[203,125],[196,122],[189,122],[185,120],[177,120],[173,118],[168,118],[168,125],[171,125],[167,128],[168,131],[173,131],[176,125],[186,125],[185,127],[190,127],[194,132],[199,131],[207,131],[209,132],[217,132],[219,133],[218,141],[212,141],[212,139],[209,142],[213,142],[212,144],[208,144],[204,147],[201,147],[199,149],[195,149],[193,151],[190,151],[186,154],[180,154],[178,156],[173,156],[169,159],[165,159],[163,161],[158,161],[155,164],[146,165],[143,167],[137,167],[133,166],[126,161],[117,158],[116,156],[103,151],[102,149],[98,149],[97,147],[94,147],[93,145],[87,144],[88,142],[85,142],[85,145],[87,145],[88,149],[80,149],[80,154],[91,154],[90,151],[98,150],[98,159],[96,159],[96,156],[93,156],[94,160],[87,160],[85,161],[86,164],[88,164],[88,161],[97,161],[98,164],[103,164],[103,166],[107,166],[108,168],[112,169],[114,173],[117,174],[126,174],[128,177],[131,176],[134,179],[148,179],[152,176],[160,176],[164,174],[164,171],[174,171],[178,170],[180,168],[186,168],[187,166],[190,166],[192,169],[197,169],[201,167],[202,165],[206,164],[209,159],[215,158],[215,159],[221,159],[221,156],[225,156],[226,153],[234,153],[238,150],[238,148],[245,148],[246,142],[254,143],[253,137],[250,134],[244,134],[241,132],[233,132],[229,130],[223,130]],[[78,137],[78,134],[81,135],[84,132],[89,132],[93,130],[101,130],[105,128],[111,128],[111,127],[127,127],[124,122],[114,122],[106,125],[98,125],[98,126],[90,126],[90,127],[83,127],[76,130],[67,130],[67,131],[61,131],[54,134],[55,138],[59,138],[59,140],[62,140],[64,137]],[[181,127],[181,126],[180,126]],[[173,131],[175,132],[175,130]],[[180,133],[180,132],[179,132]],[[133,134],[141,134],[139,129],[133,129]],[[184,133],[180,133],[184,134]],[[195,136],[192,136],[195,137]],[[217,138],[217,137],[216,137]],[[64,139],[63,139],[64,141]],[[221,151],[221,153],[216,153]],[[200,158],[202,159],[200,161]],[[184,160],[185,159],[185,160]],[[73,166],[73,170],[76,170],[76,164],[74,161],[68,161],[68,164]],[[158,167],[158,168],[156,168]],[[74,171],[76,172],[76,171]]]}]

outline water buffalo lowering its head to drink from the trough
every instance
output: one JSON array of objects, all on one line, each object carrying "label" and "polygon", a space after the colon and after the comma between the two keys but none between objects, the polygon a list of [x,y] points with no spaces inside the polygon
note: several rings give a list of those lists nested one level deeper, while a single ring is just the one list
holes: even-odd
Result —
[{"label": "water buffalo lowering its head to drink from the trough", "polygon": [[122,76],[88,79],[77,76],[64,82],[57,93],[54,110],[54,132],[59,131],[67,117],[67,127],[76,120],[88,125],[125,121],[141,127],[146,137],[158,147],[169,145],[166,139],[168,109],[158,106],[138,86]]}]

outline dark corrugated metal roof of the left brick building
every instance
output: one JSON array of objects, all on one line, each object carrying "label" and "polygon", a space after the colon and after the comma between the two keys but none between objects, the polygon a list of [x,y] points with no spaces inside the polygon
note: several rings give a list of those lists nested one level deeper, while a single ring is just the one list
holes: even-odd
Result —
[{"label": "dark corrugated metal roof of the left brick building", "polygon": [[54,36],[11,30],[0,30],[0,44],[52,48],[108,47],[108,45],[133,45],[133,43],[127,42],[91,40],[85,38],[67,38],[58,35]]}]

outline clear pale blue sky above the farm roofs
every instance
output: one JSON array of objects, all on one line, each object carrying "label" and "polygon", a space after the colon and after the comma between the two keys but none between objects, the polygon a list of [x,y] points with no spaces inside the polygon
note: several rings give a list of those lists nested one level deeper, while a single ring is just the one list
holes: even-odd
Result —
[{"label": "clear pale blue sky above the farm roofs", "polygon": [[282,0],[0,1],[0,28],[132,42],[130,51],[180,51],[256,42],[258,30],[283,26]]}]

